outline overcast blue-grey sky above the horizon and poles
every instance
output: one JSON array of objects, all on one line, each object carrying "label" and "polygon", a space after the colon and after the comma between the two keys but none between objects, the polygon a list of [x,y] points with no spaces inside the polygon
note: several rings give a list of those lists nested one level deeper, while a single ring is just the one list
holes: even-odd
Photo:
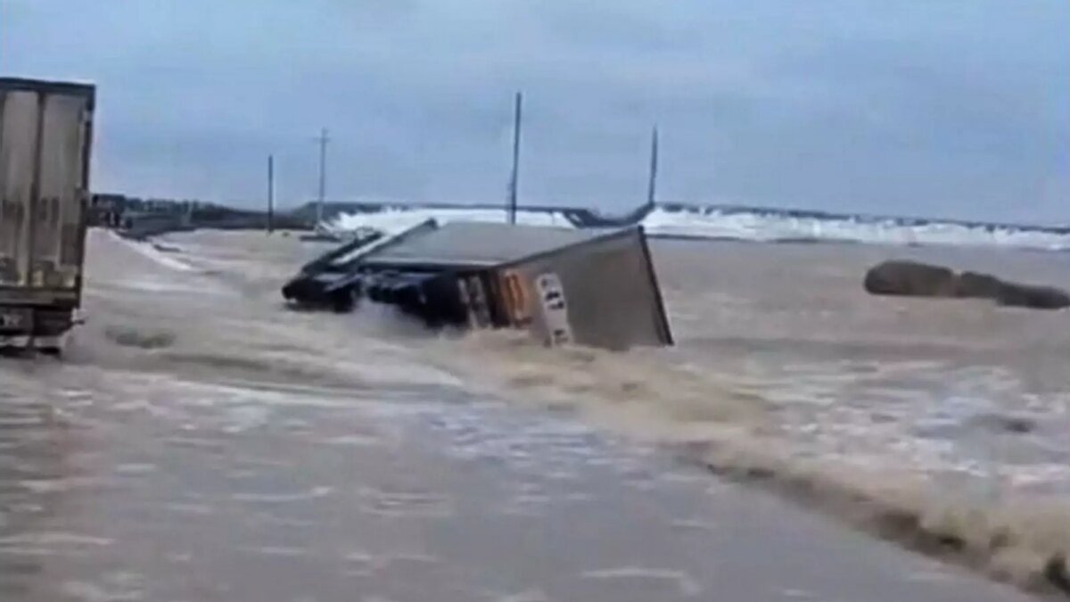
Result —
[{"label": "overcast blue-grey sky above the horizon and poles", "polygon": [[100,86],[94,189],[1070,222],[1066,0],[0,0],[0,73]]}]

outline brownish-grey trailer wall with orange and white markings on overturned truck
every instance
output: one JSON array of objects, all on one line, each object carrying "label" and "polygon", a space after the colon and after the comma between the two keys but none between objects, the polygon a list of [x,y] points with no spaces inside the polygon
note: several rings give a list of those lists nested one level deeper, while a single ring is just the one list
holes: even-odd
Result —
[{"label": "brownish-grey trailer wall with orange and white markings on overturned truck", "polygon": [[[506,305],[514,322],[526,321],[548,343],[609,349],[673,343],[641,228],[518,261],[499,276],[513,299]],[[562,328],[568,332],[559,340],[554,331]]]}]

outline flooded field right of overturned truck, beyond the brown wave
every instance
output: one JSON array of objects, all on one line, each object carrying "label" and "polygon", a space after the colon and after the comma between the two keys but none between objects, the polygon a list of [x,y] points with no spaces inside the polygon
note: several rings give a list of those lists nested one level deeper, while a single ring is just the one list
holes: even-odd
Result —
[{"label": "flooded field right of overturned truck, beyond the brown wave", "polygon": [[[746,391],[798,453],[914,472],[979,500],[1070,501],[1064,312],[882,299],[889,257],[1070,288],[1070,257],[985,249],[677,245],[662,250],[676,353]],[[712,252],[713,251],[713,252]]]}]

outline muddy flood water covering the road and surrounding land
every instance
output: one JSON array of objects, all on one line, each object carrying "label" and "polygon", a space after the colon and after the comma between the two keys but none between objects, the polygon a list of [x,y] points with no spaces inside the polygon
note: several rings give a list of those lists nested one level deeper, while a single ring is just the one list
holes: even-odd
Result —
[{"label": "muddy flood water covering the road and surrounding land", "polygon": [[[659,243],[681,344],[606,353],[287,312],[316,249],[167,244],[93,232],[67,357],[0,365],[2,600],[1014,600],[694,464],[992,524],[1070,482],[1065,315],[868,298],[886,249]],[[997,576],[1070,542],[1013,525]]]}]

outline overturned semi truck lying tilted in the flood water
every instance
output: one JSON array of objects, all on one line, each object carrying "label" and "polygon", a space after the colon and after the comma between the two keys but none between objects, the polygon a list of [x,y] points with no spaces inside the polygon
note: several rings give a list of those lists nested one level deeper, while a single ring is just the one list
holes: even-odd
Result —
[{"label": "overturned semi truck lying tilted in the flood water", "polygon": [[612,231],[423,222],[356,238],[282,287],[300,307],[385,303],[430,328],[528,329],[550,345],[672,345],[641,226]]}]

